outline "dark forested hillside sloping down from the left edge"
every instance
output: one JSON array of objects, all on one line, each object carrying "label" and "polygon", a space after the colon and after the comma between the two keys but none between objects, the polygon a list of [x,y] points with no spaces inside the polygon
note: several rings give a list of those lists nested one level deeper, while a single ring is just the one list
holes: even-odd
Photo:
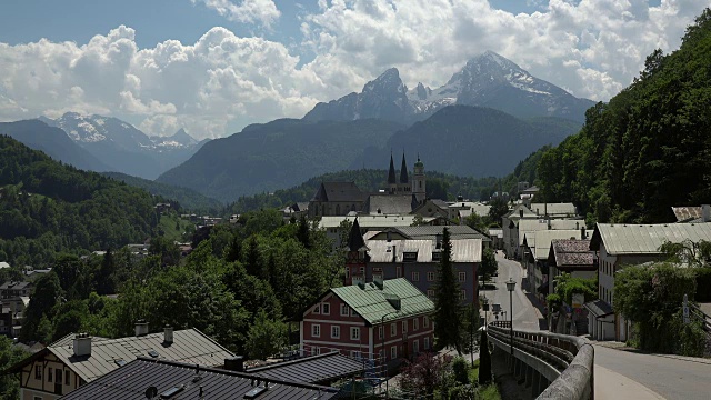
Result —
[{"label": "dark forested hillside sloping down from the left edge", "polygon": [[158,223],[158,201],[0,136],[0,261],[41,267],[59,251],[143,242]]}]

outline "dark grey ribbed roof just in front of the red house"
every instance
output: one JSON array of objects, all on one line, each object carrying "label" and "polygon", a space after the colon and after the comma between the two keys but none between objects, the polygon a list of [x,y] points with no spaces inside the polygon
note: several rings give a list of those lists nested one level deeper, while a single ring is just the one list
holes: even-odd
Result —
[{"label": "dark grey ribbed roof just in front of the red house", "polygon": [[338,351],[332,351],[266,367],[250,368],[246,372],[268,379],[321,383],[351,377],[362,371],[363,363],[361,361],[346,357]]}]

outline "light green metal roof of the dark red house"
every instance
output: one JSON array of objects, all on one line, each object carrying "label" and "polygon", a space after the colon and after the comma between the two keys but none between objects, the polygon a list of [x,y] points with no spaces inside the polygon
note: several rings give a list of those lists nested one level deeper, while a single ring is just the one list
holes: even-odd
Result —
[{"label": "light green metal roof of the dark red house", "polygon": [[[432,300],[404,278],[383,281],[382,290],[371,282],[333,288],[331,291],[370,324],[380,323],[383,317],[382,321],[390,321],[434,312]],[[389,298],[400,299],[399,311],[388,301]]]}]

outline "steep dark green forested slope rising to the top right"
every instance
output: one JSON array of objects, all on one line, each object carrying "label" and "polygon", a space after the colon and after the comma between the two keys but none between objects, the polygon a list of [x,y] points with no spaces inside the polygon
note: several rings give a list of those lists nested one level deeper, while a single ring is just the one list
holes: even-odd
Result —
[{"label": "steep dark green forested slope rising to the top right", "polygon": [[671,54],[654,51],[634,82],[588,110],[585,126],[539,164],[543,197],[589,219],[674,221],[672,206],[711,202],[711,11]]}]

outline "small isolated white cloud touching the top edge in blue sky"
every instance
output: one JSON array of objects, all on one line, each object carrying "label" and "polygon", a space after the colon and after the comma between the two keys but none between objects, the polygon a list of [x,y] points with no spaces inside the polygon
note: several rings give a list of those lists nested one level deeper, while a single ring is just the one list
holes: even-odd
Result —
[{"label": "small isolated white cloud touching the top edge in blue sky", "polygon": [[193,4],[201,2],[230,21],[242,23],[260,22],[270,27],[279,19],[281,12],[271,0],[242,0],[236,4],[231,0],[190,0]]}]

